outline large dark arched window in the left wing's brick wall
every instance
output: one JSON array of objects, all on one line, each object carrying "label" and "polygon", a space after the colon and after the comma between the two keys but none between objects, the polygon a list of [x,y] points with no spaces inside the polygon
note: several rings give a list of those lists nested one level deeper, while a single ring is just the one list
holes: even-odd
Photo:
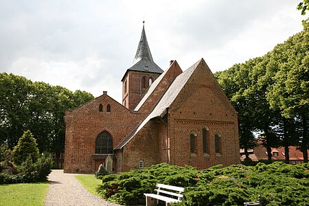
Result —
[{"label": "large dark arched window in the left wing's brick wall", "polygon": [[113,154],[113,138],[111,134],[103,131],[95,140],[95,154]]}]

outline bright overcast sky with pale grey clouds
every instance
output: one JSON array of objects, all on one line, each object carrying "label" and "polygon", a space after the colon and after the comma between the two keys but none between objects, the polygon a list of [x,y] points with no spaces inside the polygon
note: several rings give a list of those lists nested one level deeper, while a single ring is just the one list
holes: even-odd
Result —
[{"label": "bright overcast sky with pale grey clouds", "polygon": [[184,71],[204,58],[216,72],[300,32],[299,1],[0,0],[0,72],[121,102],[143,20],[161,69],[177,60]]}]

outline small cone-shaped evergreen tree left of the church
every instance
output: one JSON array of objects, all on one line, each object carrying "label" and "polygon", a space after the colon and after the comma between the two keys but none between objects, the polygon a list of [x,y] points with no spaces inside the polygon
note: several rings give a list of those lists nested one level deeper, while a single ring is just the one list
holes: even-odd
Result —
[{"label": "small cone-shaped evergreen tree left of the church", "polygon": [[30,130],[25,131],[23,136],[19,138],[18,144],[13,150],[13,161],[16,165],[21,165],[28,156],[32,158],[32,161],[38,160],[38,148],[36,147],[36,139],[34,139]]}]

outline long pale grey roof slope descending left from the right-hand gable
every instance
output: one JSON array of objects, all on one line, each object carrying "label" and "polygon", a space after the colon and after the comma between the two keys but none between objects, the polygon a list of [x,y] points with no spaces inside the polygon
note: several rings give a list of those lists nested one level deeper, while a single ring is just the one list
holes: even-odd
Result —
[{"label": "long pale grey roof slope descending left from the right-hand gable", "polygon": [[[130,141],[130,139],[132,139],[139,132],[139,130],[141,130],[141,128],[143,128],[150,121],[150,119],[155,118],[155,117],[163,117],[167,113],[168,108],[170,107],[170,104],[174,102],[176,97],[179,95],[181,89],[183,89],[183,87],[185,86],[185,83],[187,83],[187,80],[189,80],[190,76],[195,71],[196,67],[198,67],[201,61],[204,61],[203,58],[199,60],[198,62],[196,62],[194,65],[192,65],[192,67],[185,70],[183,73],[181,73],[179,76],[176,77],[174,82],[172,82],[172,84],[170,85],[168,90],[164,93],[163,97],[161,98],[159,103],[155,106],[155,108],[152,110],[152,112],[115,149],[123,148],[128,143],[128,141]],[[161,76],[163,75],[164,73],[161,74]]]}]

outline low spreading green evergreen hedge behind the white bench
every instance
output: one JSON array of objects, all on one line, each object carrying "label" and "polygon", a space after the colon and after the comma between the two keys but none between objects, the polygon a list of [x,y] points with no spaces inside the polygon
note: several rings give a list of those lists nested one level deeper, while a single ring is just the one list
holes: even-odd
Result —
[{"label": "low spreading green evergreen hedge behind the white bench", "polygon": [[183,202],[176,205],[243,205],[258,201],[259,195],[263,205],[309,203],[309,163],[216,165],[205,170],[161,163],[101,178],[99,194],[122,205],[145,205],[143,194],[155,192],[156,183],[185,187]]}]

